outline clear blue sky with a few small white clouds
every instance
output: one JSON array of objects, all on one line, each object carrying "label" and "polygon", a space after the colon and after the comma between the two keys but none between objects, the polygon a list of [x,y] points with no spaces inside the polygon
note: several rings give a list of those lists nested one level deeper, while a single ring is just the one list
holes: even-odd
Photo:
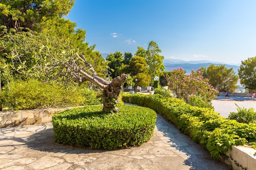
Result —
[{"label": "clear blue sky with a few small white clouds", "polygon": [[66,18],[100,53],[134,54],[155,41],[166,59],[256,56],[256,0],[76,0]]}]

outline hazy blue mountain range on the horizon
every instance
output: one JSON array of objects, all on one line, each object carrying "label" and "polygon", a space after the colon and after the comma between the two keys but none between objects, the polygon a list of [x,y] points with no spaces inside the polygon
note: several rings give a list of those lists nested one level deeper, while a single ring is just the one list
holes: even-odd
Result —
[{"label": "hazy blue mountain range on the horizon", "polygon": [[[106,58],[109,54],[102,53],[102,57]],[[186,73],[190,73],[192,70],[196,70],[201,67],[207,68],[209,65],[214,64],[215,66],[225,65],[227,68],[233,68],[236,74],[238,74],[238,68],[240,64],[227,64],[224,62],[211,62],[207,60],[198,60],[198,61],[185,61],[185,60],[178,60],[178,59],[164,59],[163,64],[165,66],[164,71],[172,71],[174,68],[182,68],[186,71]]]}]

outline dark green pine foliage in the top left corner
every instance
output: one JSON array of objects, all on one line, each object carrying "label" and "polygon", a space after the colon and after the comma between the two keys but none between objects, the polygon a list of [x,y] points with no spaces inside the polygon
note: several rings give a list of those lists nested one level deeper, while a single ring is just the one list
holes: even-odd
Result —
[{"label": "dark green pine foliage in the top left corner", "polygon": [[75,0],[1,0],[0,22],[8,30],[29,28],[40,30],[41,24],[62,18],[73,7]]}]

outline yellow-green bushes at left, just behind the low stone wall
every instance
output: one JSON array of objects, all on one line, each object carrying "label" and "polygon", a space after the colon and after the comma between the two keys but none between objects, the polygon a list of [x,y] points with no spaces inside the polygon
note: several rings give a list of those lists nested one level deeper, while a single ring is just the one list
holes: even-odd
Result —
[{"label": "yellow-green bushes at left, just behind the low stone wall", "polygon": [[1,93],[2,107],[5,110],[101,104],[97,92],[84,92],[82,88],[75,91],[56,89],[48,83],[36,80],[11,82],[10,88],[11,90],[3,88]]}]

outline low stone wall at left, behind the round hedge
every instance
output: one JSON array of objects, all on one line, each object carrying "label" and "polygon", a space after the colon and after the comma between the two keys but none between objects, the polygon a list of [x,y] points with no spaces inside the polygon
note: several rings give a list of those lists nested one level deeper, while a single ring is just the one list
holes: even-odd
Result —
[{"label": "low stone wall at left, behind the round hedge", "polygon": [[0,128],[51,122],[54,113],[70,108],[74,107],[0,111]]}]

